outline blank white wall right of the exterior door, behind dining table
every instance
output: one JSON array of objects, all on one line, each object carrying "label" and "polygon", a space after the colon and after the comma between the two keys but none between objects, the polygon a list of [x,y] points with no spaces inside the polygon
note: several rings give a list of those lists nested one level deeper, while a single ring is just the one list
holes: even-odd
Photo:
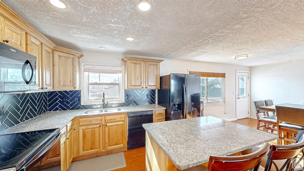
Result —
[{"label": "blank white wall right of the exterior door, behind dining table", "polygon": [[253,101],[273,99],[274,104],[303,104],[304,60],[250,67],[250,116]]}]

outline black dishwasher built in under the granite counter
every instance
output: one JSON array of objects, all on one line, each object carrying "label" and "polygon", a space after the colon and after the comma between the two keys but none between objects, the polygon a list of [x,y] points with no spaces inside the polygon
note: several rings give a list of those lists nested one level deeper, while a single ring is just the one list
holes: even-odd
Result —
[{"label": "black dishwasher built in under the granite counter", "polygon": [[146,130],[143,124],[153,123],[153,111],[128,113],[128,146],[127,149],[146,145]]}]

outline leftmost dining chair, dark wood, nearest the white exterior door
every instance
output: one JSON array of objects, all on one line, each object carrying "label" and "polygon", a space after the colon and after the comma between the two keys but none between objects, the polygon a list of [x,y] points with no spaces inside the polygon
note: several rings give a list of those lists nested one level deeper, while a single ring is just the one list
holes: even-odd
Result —
[{"label": "leftmost dining chair, dark wood, nearest the white exterior door", "polygon": [[[263,127],[263,131],[266,132],[268,132],[268,129],[270,129],[272,133],[273,131],[277,131],[277,129],[275,128],[277,126],[277,117],[267,116],[266,111],[259,110],[259,106],[264,106],[264,102],[262,100],[254,101],[253,105],[254,105],[255,114],[257,116],[257,129],[259,130],[260,127]],[[263,116],[259,116],[259,113],[263,113]],[[264,124],[260,125],[260,122],[263,122]],[[270,127],[270,125],[274,125],[274,126]]]}]

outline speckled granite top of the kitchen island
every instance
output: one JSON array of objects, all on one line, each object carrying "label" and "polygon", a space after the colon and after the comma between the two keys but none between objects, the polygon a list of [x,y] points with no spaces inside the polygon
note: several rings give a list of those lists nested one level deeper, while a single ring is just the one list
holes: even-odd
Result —
[{"label": "speckled granite top of the kitchen island", "polygon": [[275,134],[216,117],[197,117],[143,124],[178,169],[208,162],[210,155],[226,156],[278,139]]}]

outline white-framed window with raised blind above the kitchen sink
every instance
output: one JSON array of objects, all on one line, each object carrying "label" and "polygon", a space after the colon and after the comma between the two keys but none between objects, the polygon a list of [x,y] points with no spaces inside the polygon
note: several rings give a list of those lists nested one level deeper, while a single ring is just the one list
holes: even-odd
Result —
[{"label": "white-framed window with raised blind above the kitchen sink", "polygon": [[82,65],[82,72],[81,104],[102,103],[103,93],[105,103],[124,102],[123,66]]}]

